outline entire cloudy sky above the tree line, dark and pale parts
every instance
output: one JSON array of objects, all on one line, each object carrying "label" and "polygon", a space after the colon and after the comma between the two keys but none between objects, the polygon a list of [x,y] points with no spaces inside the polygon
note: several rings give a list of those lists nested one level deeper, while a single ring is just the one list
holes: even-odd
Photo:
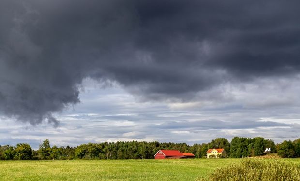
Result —
[{"label": "entire cloudy sky above the tree line, dark and pale parts", "polygon": [[0,145],[297,139],[298,7],[1,0]]}]

